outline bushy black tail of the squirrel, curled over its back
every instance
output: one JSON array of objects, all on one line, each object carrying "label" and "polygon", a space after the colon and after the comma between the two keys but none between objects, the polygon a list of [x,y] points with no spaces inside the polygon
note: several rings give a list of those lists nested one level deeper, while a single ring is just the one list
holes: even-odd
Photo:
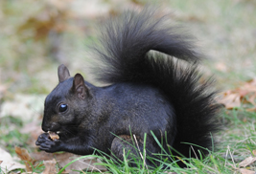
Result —
[{"label": "bushy black tail of the squirrel, curled over its back", "polygon": [[[161,89],[175,108],[177,134],[173,147],[186,157],[195,157],[198,146],[212,145],[211,134],[218,128],[218,106],[215,93],[208,92],[210,82],[199,81],[200,58],[192,37],[179,34],[180,29],[168,26],[165,20],[165,16],[155,18],[151,9],[128,11],[110,20],[102,33],[103,48],[96,49],[105,63],[97,67],[98,77],[107,83],[145,83]],[[180,66],[173,56],[190,63]],[[191,145],[183,142],[198,146],[190,151]],[[202,152],[207,154],[207,150]]]}]

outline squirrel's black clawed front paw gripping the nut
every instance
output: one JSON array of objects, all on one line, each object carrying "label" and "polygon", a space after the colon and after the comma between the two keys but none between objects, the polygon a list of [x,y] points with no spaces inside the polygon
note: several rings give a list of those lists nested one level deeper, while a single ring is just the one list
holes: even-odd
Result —
[{"label": "squirrel's black clawed front paw gripping the nut", "polygon": [[61,150],[62,141],[51,140],[50,135],[48,133],[43,133],[39,135],[37,141],[35,141],[35,145],[39,145],[39,149],[44,150],[46,152],[57,152]]}]

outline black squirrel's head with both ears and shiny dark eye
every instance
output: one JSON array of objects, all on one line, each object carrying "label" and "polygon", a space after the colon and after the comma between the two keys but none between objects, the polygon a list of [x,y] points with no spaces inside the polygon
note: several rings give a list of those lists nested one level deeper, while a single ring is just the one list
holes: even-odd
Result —
[{"label": "black squirrel's head with both ears and shiny dark eye", "polygon": [[78,126],[92,98],[81,74],[71,77],[64,65],[58,66],[58,81],[57,87],[45,99],[42,122],[45,132],[62,132]]}]

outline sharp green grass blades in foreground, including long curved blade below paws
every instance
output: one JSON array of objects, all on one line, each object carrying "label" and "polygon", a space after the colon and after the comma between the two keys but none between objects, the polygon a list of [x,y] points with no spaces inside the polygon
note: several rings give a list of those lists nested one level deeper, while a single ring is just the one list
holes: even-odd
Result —
[{"label": "sharp green grass blades in foreground, including long curved blade below paws", "polygon": [[[233,114],[234,113],[237,114],[238,111],[233,112]],[[251,115],[251,113],[248,113],[248,115]],[[239,120],[237,116],[234,115],[234,117],[236,118],[236,120],[240,121],[241,127],[247,125],[243,121]],[[240,127],[237,127],[235,124],[231,125],[229,131],[233,132],[233,134],[228,133],[228,136],[224,135],[222,137],[221,144],[219,144],[218,150],[216,150],[215,152],[210,151],[210,154],[205,159],[179,158],[179,160],[187,164],[188,168],[178,167],[176,164],[178,160],[175,160],[173,162],[167,160],[167,157],[169,157],[170,159],[174,158],[170,155],[167,155],[164,150],[162,154],[158,154],[158,157],[161,160],[152,159],[148,155],[146,156],[146,158],[150,161],[159,161],[160,164],[158,167],[151,167],[150,165],[145,164],[145,151],[138,152],[138,154],[143,153],[143,155],[141,155],[140,157],[137,156],[138,158],[133,157],[129,159],[129,152],[126,152],[125,150],[124,154],[126,155],[124,155],[124,161],[116,161],[115,159],[108,157],[108,155],[98,151],[100,154],[102,154],[101,156],[83,156],[79,159],[74,160],[71,163],[74,163],[86,157],[95,157],[103,162],[98,163],[98,165],[104,165],[108,170],[106,172],[93,171],[91,173],[236,173],[238,172],[238,169],[235,169],[235,167],[239,167],[238,163],[243,161],[245,157],[253,156],[252,150],[253,148],[255,148],[256,139],[255,126],[253,124],[251,124],[251,127],[245,128],[243,134],[240,134],[240,136],[236,135],[236,129],[243,130]],[[161,146],[161,143],[159,141],[158,145]],[[135,142],[133,143],[133,146],[136,147]],[[64,168],[71,163],[67,163],[61,170],[59,170],[59,173],[61,173],[61,171],[63,171]],[[136,166],[131,167],[128,165],[128,163],[135,163]],[[97,163],[95,164],[97,165]],[[250,165],[247,168],[252,171],[256,169],[255,165]],[[90,171],[86,170],[85,172],[90,173]]]}]

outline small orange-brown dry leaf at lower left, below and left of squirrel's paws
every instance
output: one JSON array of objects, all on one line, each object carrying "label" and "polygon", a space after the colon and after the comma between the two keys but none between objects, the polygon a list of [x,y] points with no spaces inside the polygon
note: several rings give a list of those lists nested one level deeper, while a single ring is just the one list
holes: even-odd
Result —
[{"label": "small orange-brown dry leaf at lower left, below and left of squirrel's paws", "polygon": [[34,165],[35,161],[31,158],[28,150],[25,148],[15,146],[15,152],[18,155],[18,157],[25,163],[26,171],[31,172],[32,171],[31,165]]}]

